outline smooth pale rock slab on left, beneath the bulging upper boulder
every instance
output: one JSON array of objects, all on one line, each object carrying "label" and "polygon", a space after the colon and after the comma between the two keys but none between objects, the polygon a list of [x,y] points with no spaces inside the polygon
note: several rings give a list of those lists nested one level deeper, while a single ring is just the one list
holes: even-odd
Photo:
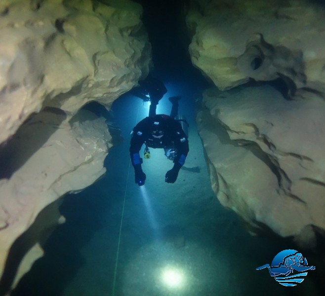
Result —
[{"label": "smooth pale rock slab on left, beneath the bulging upper boulder", "polygon": [[[46,226],[50,214],[46,223],[40,224],[34,222],[39,213],[59,197],[80,191],[105,173],[103,163],[110,141],[104,118],[80,111],[69,121],[62,111],[47,109],[26,122],[2,150],[1,164],[6,171],[0,183],[0,266],[4,275],[13,268],[6,263],[10,253],[21,256],[22,250],[27,252],[44,241],[41,237],[60,218],[57,215]],[[25,234],[30,232],[32,236]],[[28,239],[20,239],[22,233]],[[12,251],[19,240],[24,243],[18,244],[18,251]],[[0,290],[3,284],[10,284],[3,278],[1,281]]]}]

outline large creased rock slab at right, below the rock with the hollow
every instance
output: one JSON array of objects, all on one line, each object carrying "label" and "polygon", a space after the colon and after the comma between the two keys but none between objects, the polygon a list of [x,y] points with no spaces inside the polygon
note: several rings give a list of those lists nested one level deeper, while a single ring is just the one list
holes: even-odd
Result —
[{"label": "large creased rock slab at right, below the rock with the hollow", "polygon": [[270,86],[204,93],[198,116],[212,188],[252,233],[325,233],[325,103],[287,101]]}]

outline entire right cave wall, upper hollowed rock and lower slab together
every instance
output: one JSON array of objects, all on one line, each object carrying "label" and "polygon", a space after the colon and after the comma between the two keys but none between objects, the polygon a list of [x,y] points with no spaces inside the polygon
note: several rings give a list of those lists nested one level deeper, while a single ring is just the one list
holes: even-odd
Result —
[{"label": "entire right cave wall, upper hollowed rock and lower slab together", "polygon": [[305,0],[194,0],[187,14],[215,85],[197,121],[218,200],[252,234],[306,249],[325,234],[324,17]]}]

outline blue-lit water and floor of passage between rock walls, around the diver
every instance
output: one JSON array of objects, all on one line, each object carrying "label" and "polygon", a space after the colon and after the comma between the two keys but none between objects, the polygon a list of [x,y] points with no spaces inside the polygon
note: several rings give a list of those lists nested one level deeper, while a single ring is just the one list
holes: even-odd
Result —
[{"label": "blue-lit water and floor of passage between rock walls, around the diver", "polygon": [[[317,295],[311,278],[304,286],[287,288],[266,269],[255,270],[295,247],[250,236],[215,198],[194,121],[196,94],[208,84],[191,65],[184,40],[177,38],[180,6],[171,0],[142,2],[147,5],[144,21],[153,43],[155,74],[168,89],[158,113],[169,114],[168,96],[181,95],[179,112],[190,123],[185,169],[175,184],[165,184],[164,174],[172,164],[155,150],[143,164],[146,192],[134,184],[129,132],[147,116],[148,106],[123,95],[112,107],[123,141],[110,150],[106,175],[64,198],[66,223],[53,232],[44,257],[12,295]],[[163,284],[160,272],[165,265],[183,275],[181,288]]]}]

